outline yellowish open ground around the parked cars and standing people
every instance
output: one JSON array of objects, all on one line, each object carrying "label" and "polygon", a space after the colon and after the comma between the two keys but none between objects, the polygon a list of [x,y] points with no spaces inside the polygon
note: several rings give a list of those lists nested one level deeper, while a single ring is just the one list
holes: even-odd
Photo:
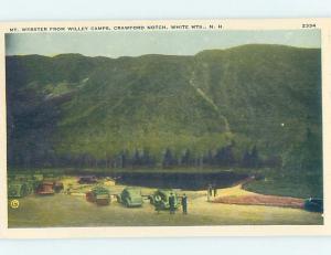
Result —
[{"label": "yellowish open ground around the parked cars and standing people", "polygon": [[[74,178],[65,178],[64,183],[74,182]],[[124,187],[109,183],[113,194],[119,193]],[[20,199],[20,206],[9,206],[9,227],[50,227],[50,226],[157,226],[157,225],[309,225],[322,224],[320,213],[300,209],[232,205],[206,201],[206,191],[179,191],[189,198],[189,214],[180,211],[170,215],[162,211],[156,213],[154,208],[146,201],[142,208],[127,209],[113,200],[109,206],[97,206],[86,202],[84,187],[76,195],[55,194],[53,196],[30,195]],[[151,194],[154,189],[142,188],[143,194]],[[218,195],[247,195],[252,192],[239,185],[220,189]]]}]

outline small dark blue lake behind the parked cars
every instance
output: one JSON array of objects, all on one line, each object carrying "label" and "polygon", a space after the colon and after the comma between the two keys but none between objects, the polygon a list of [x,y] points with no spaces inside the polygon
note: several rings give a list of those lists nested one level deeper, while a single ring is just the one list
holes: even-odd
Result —
[{"label": "small dark blue lake behind the parked cars", "polygon": [[125,172],[117,177],[125,185],[141,185],[161,189],[203,190],[209,184],[227,188],[248,178],[246,173],[223,172]]}]

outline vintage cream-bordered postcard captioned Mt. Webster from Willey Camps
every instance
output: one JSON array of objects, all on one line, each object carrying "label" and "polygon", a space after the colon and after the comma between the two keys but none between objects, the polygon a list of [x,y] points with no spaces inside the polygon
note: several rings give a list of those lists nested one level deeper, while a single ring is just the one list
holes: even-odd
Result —
[{"label": "vintage cream-bordered postcard captioned Mt. Webster from Willey Camps", "polygon": [[2,23],[0,46],[0,236],[331,234],[331,19]]}]

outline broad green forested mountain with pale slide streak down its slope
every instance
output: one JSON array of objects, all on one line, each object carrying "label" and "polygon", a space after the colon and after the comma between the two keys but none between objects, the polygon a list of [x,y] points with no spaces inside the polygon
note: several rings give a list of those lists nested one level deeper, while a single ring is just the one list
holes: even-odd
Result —
[{"label": "broad green forested mountain with pale slide streak down its slope", "polygon": [[202,162],[228,148],[238,162],[254,148],[265,161],[321,167],[319,49],[7,56],[6,66],[12,166],[160,163],[167,151]]}]

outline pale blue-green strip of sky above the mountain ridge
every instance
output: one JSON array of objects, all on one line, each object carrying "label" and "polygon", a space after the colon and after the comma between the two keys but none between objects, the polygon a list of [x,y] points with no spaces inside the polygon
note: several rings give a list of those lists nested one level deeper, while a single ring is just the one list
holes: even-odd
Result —
[{"label": "pale blue-green strip of sky above the mountain ridge", "polygon": [[194,55],[203,50],[250,43],[320,47],[321,35],[319,30],[12,33],[6,36],[6,54],[53,56],[79,53],[108,57]]}]

